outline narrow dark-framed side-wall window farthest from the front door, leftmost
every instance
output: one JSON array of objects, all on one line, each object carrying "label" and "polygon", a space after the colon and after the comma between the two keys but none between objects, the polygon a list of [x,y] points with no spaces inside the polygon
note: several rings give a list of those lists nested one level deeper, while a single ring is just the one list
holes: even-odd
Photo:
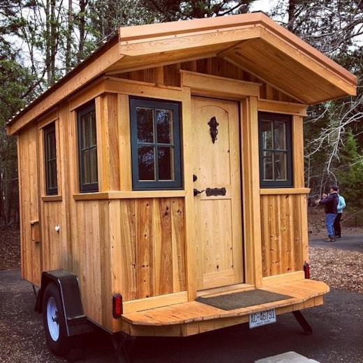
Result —
[{"label": "narrow dark-framed side-wall window farthest from the front door, leftmost", "polygon": [[57,145],[55,122],[43,128],[44,131],[44,157],[45,157],[45,193],[58,194],[57,181]]}]

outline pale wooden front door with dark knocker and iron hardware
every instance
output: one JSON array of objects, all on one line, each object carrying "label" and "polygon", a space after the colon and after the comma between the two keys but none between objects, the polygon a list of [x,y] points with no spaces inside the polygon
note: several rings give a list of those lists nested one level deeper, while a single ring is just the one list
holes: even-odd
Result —
[{"label": "pale wooden front door with dark knocker and iron hardware", "polygon": [[239,106],[194,97],[192,109],[197,278],[204,290],[244,281]]}]

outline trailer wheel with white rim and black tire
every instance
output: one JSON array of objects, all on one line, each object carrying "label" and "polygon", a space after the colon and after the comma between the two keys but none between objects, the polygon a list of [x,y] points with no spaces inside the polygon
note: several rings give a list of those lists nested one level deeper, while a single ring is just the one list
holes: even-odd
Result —
[{"label": "trailer wheel with white rim and black tire", "polygon": [[50,350],[57,355],[66,355],[70,347],[66,336],[61,295],[54,283],[48,283],[43,295],[43,326]]}]

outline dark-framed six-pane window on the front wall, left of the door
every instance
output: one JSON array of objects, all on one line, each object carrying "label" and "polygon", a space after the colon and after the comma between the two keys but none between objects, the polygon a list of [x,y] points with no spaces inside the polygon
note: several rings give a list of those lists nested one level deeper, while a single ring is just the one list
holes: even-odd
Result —
[{"label": "dark-framed six-pane window on the front wall, left of the door", "polygon": [[133,189],[180,189],[179,103],[130,99]]}]

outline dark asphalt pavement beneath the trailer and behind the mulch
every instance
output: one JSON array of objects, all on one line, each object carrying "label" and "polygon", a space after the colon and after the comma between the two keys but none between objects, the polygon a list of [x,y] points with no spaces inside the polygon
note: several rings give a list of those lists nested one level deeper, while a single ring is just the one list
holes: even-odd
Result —
[{"label": "dark asphalt pavement beneath the trailer and behind the mulch", "polygon": [[[363,236],[335,244],[312,245],[363,251]],[[333,246],[334,245],[334,246]],[[34,312],[34,292],[19,269],[0,271],[0,362],[117,362],[110,336],[102,330],[87,336],[68,359],[54,357],[45,345],[41,315]],[[363,294],[332,290],[325,304],[303,311],[313,328],[305,335],[292,314],[277,323],[249,329],[247,324],[186,338],[138,338],[128,341],[131,363],[253,363],[294,351],[320,363],[363,363]]]}]

